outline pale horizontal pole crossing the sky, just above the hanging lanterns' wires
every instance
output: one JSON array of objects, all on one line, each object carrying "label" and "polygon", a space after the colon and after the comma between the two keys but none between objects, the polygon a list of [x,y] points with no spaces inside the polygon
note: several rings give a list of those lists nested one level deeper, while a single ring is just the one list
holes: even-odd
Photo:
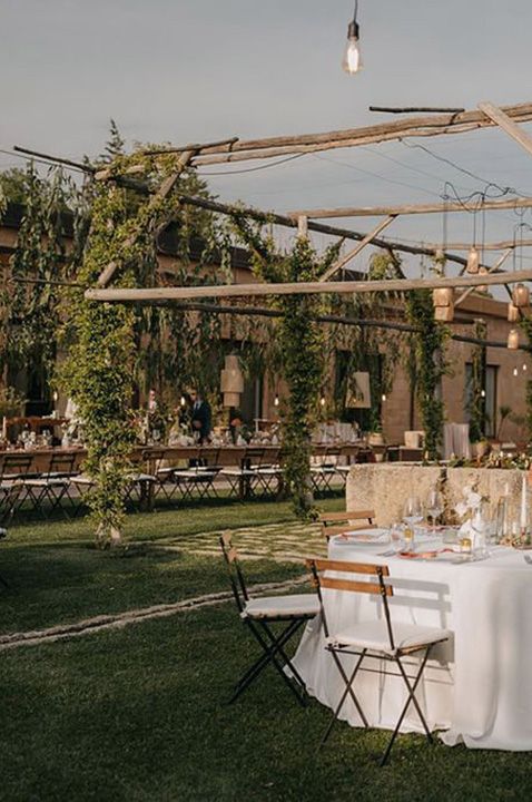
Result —
[{"label": "pale horizontal pole crossing the sky, just above the hanging lanterns' wires", "polygon": [[[513,209],[532,207],[532,197],[518,196],[505,200],[483,200],[474,203],[439,203],[439,204],[404,204],[402,206],[341,206],[338,208],[297,209],[287,212],[288,217],[305,215],[309,219],[326,219],[329,217],[382,217],[384,215],[418,215],[443,214],[446,212],[480,212],[482,209]],[[471,244],[470,246],[471,247]]]}]

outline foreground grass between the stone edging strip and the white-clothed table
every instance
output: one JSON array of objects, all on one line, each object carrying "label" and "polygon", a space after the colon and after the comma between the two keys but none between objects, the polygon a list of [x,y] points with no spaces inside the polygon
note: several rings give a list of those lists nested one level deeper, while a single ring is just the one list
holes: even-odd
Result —
[{"label": "foreground grass between the stone edging strip and the white-clothed table", "polygon": [[1,800],[525,800],[530,756],[428,746],[298,707],[273,672],[233,706],[254,647],[231,606],[2,655]]}]

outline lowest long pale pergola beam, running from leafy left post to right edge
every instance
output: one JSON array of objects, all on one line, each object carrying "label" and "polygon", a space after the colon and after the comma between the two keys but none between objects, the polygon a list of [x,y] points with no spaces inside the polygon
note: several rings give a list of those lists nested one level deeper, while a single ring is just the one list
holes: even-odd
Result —
[{"label": "lowest long pale pergola beam, running from leafy left post to right edge", "polygon": [[253,297],[265,295],[313,295],[324,293],[374,293],[435,290],[439,287],[475,287],[483,285],[514,284],[532,281],[532,270],[499,273],[496,275],[461,275],[434,278],[390,278],[385,281],[355,282],[287,282],[286,284],[223,284],[217,286],[148,287],[130,290],[90,288],[85,293],[88,301],[122,303],[127,301],[160,301],[200,297]]}]

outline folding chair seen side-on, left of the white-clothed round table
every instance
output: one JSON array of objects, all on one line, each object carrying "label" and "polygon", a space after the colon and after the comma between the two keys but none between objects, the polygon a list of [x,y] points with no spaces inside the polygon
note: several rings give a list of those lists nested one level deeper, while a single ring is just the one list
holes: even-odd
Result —
[{"label": "folding chair seen side-on, left of the white-clothed round table", "polygon": [[[235,686],[229,704],[272,665],[289,687],[301,704],[306,703],[305,683],[286,654],[285,647],[298,629],[319,612],[315,594],[293,594],[290,596],[263,596],[249,598],[244,575],[230,535],[220,539],[221,551],[228,567],[229,580],[240,619],[246,624],[263,649],[263,654],[245,672]],[[280,632],[274,632],[272,625],[284,624]],[[285,672],[289,669],[289,674]]]}]

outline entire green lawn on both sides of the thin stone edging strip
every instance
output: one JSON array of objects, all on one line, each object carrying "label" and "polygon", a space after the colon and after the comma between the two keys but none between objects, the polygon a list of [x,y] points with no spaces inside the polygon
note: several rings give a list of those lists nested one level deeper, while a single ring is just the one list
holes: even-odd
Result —
[{"label": "entire green lawn on both sides of the thin stone edging strip", "polygon": [[[341,501],[328,506],[341,506]],[[128,519],[145,547],[91,548],[87,520],[10,530],[1,544],[1,632],[20,632],[177,602],[227,588],[218,556],[193,532],[293,522],[286,505],[234,505]],[[168,539],[184,547],[160,548]],[[238,542],[239,534],[235,539]],[[160,540],[161,539],[161,540]],[[157,542],[160,540],[160,542]],[[191,539],[194,541],[194,538]],[[215,538],[213,536],[213,542]],[[250,581],[301,574],[246,560]],[[235,705],[233,682],[255,645],[233,603],[0,655],[0,800],[48,802],[462,802],[528,800],[530,754],[430,746],[338,725],[316,752],[329,712],[301,708],[273,671]]]}]

